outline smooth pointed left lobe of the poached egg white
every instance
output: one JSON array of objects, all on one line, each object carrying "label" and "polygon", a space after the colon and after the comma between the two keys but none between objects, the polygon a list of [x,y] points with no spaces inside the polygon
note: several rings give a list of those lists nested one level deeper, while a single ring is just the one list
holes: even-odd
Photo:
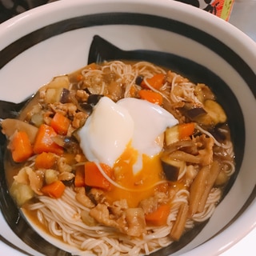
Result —
[{"label": "smooth pointed left lobe of the poached egg white", "polygon": [[113,166],[133,133],[134,121],[128,111],[110,98],[102,97],[78,136],[89,161]]}]

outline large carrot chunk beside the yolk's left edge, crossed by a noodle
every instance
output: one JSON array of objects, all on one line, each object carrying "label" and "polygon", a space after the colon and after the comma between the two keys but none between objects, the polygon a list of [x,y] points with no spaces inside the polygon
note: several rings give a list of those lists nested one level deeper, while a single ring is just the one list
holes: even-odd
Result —
[{"label": "large carrot chunk beside the yolk's left edge, crossed by a noodle", "polygon": [[[101,163],[100,166],[106,175],[111,177],[111,167],[103,163]],[[98,170],[98,166],[95,162],[85,163],[85,182],[87,186],[98,187],[105,190],[110,189],[110,182],[102,175],[101,171]]]}]

